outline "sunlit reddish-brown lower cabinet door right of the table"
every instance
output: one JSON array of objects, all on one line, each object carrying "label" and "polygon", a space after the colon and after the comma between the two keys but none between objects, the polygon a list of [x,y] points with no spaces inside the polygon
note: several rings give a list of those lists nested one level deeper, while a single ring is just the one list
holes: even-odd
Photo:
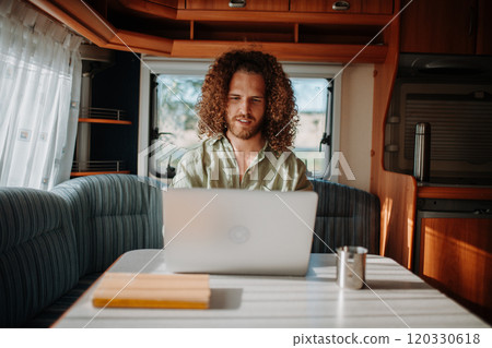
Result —
[{"label": "sunlit reddish-brown lower cabinet door right of the table", "polygon": [[422,218],[420,255],[425,280],[492,311],[492,218]]}]

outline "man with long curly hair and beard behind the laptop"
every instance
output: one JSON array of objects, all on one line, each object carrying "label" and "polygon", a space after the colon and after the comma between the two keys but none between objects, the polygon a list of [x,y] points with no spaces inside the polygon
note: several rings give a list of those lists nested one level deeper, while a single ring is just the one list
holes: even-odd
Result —
[{"label": "man with long curly hair and beard behind the laptop", "polygon": [[197,105],[208,139],[179,161],[174,188],[312,190],[289,151],[298,122],[294,93],[277,59],[234,50],[210,68]]}]

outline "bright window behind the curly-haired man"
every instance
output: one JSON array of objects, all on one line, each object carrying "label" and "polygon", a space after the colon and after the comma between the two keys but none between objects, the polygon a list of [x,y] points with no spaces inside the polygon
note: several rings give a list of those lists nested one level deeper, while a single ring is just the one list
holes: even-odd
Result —
[{"label": "bright window behind the curly-haired man", "polygon": [[[157,177],[165,177],[165,172],[175,167],[183,154],[197,145],[200,140],[197,134],[198,117],[195,106],[200,96],[204,74],[210,61],[171,61],[155,63],[144,59],[143,64],[152,83],[150,99],[150,140],[154,144],[157,140],[174,147],[166,156],[149,156],[149,171]],[[326,164],[329,161],[333,148],[333,140],[338,136],[331,134],[333,124],[333,69],[327,73],[324,69],[311,69],[298,64],[283,64],[285,72],[291,76],[300,116],[297,134],[294,142],[294,153],[307,166],[308,175],[325,177]],[[188,69],[187,69],[188,68]],[[201,72],[201,73],[200,73]],[[336,145],[337,146],[337,145]],[[139,168],[140,173],[140,168]]]}]

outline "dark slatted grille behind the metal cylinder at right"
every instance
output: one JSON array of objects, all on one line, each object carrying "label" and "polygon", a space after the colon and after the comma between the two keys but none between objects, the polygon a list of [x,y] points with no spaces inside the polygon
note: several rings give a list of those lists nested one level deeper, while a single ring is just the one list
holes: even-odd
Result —
[{"label": "dark slatted grille behind the metal cylinder at right", "polygon": [[431,123],[431,159],[492,161],[492,98],[409,94],[405,104],[405,158],[413,159],[415,124]]}]

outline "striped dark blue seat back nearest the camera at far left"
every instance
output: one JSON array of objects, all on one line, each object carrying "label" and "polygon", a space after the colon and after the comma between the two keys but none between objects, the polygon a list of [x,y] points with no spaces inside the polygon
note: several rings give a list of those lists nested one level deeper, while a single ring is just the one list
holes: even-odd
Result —
[{"label": "striped dark blue seat back nearest the camera at far left", "polygon": [[0,327],[21,325],[78,280],[67,203],[46,191],[0,188]]}]

